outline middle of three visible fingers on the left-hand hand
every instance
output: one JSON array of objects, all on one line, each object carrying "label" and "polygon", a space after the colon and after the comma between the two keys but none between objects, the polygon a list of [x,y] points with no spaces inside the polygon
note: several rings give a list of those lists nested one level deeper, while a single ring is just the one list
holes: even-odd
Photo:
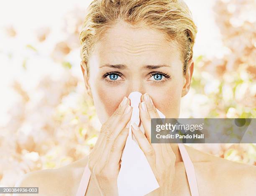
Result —
[{"label": "middle of three visible fingers on the left-hand hand", "polygon": [[106,164],[106,161],[108,160],[108,156],[115,139],[118,137],[121,130],[123,130],[125,125],[127,125],[128,121],[131,119],[132,107],[128,105],[127,109],[128,110],[126,110],[126,112],[128,113],[123,114],[123,117],[120,118],[119,122],[115,123],[115,127],[114,126],[111,127],[113,131],[112,132],[109,131],[110,133],[107,135],[107,137],[105,137],[106,139],[105,145],[103,146],[103,150],[100,155],[100,163],[99,163],[99,165],[101,165],[102,167]]}]

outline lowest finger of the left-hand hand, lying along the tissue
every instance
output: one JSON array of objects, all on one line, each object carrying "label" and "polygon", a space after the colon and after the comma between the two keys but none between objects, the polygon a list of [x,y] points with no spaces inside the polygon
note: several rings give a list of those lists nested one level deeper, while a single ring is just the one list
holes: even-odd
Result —
[{"label": "lowest finger of the left-hand hand, lying along the tissue", "polygon": [[108,161],[106,164],[106,167],[108,167],[109,169],[113,167],[116,168],[117,166],[119,166],[123,148],[125,146],[129,134],[129,125],[130,123],[128,123],[128,125],[120,132],[120,134],[115,139],[115,142],[112,145]]}]

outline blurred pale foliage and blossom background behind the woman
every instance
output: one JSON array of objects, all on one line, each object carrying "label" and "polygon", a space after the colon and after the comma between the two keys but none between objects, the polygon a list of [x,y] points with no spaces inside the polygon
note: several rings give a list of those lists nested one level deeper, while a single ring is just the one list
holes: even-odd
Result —
[{"label": "blurred pale foliage and blossom background behind the woman", "polygon": [[[182,98],[180,117],[255,118],[255,0],[185,1],[199,33],[192,87]],[[26,1],[24,9],[26,3],[32,4],[27,10],[36,7]],[[1,26],[0,37],[0,186],[13,187],[24,173],[59,168],[83,158],[97,140],[101,125],[85,92],[79,57],[79,32],[89,3],[42,5],[41,9],[49,9],[40,16],[42,20],[33,21],[37,12],[30,10],[29,20],[22,24],[15,10],[5,7],[15,20],[1,17],[8,22]],[[208,12],[210,16],[204,17]],[[36,28],[23,31],[24,24]],[[192,146],[256,165],[255,144]]]}]

